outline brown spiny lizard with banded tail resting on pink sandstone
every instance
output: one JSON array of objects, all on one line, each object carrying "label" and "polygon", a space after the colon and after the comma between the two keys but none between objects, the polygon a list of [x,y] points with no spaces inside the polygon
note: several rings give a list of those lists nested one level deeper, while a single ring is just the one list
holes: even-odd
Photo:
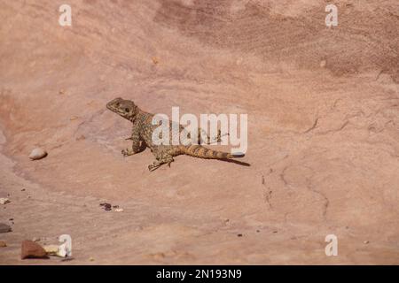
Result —
[{"label": "brown spiny lizard with banded tail resting on pink sandstone", "polygon": [[[206,159],[231,159],[237,157],[244,157],[242,153],[231,154],[223,151],[216,151],[213,149],[207,149],[200,144],[200,133],[203,131],[199,128],[198,130],[198,142],[194,143],[186,141],[179,145],[156,145],[153,143],[153,131],[159,125],[153,125],[152,113],[142,111],[137,105],[131,100],[125,100],[121,97],[115,98],[109,103],[106,103],[106,108],[114,113],[120,115],[124,119],[128,119],[132,124],[131,136],[128,138],[132,141],[130,149],[122,149],[121,154],[124,157],[129,157],[140,153],[145,148],[151,149],[155,161],[153,164],[148,165],[150,172],[158,169],[162,164],[170,164],[174,161],[173,157],[179,155],[187,155],[191,157],[200,157]],[[169,123],[172,123],[171,121]],[[170,124],[171,125],[171,124]],[[169,127],[170,129],[171,127]],[[179,132],[184,130],[184,126],[179,125]],[[169,137],[172,138],[172,131],[169,131]],[[190,138],[189,134],[187,137]],[[171,140],[169,140],[171,141]],[[218,133],[217,141],[220,141],[220,130]],[[207,136],[207,142],[210,143],[210,138]],[[182,143],[182,142],[181,142]]]}]

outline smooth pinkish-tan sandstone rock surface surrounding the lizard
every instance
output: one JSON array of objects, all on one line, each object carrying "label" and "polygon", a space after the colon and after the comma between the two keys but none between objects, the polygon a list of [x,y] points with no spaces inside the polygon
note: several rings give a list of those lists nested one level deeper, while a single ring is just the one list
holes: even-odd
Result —
[{"label": "smooth pinkish-tan sandstone rock surface surrounding the lizard", "polygon": [[[1,1],[0,264],[399,264],[398,4],[335,3],[329,28],[321,0],[70,0],[60,27],[64,3]],[[148,172],[117,96],[248,114],[251,166]],[[20,260],[65,233],[73,261]]]}]

